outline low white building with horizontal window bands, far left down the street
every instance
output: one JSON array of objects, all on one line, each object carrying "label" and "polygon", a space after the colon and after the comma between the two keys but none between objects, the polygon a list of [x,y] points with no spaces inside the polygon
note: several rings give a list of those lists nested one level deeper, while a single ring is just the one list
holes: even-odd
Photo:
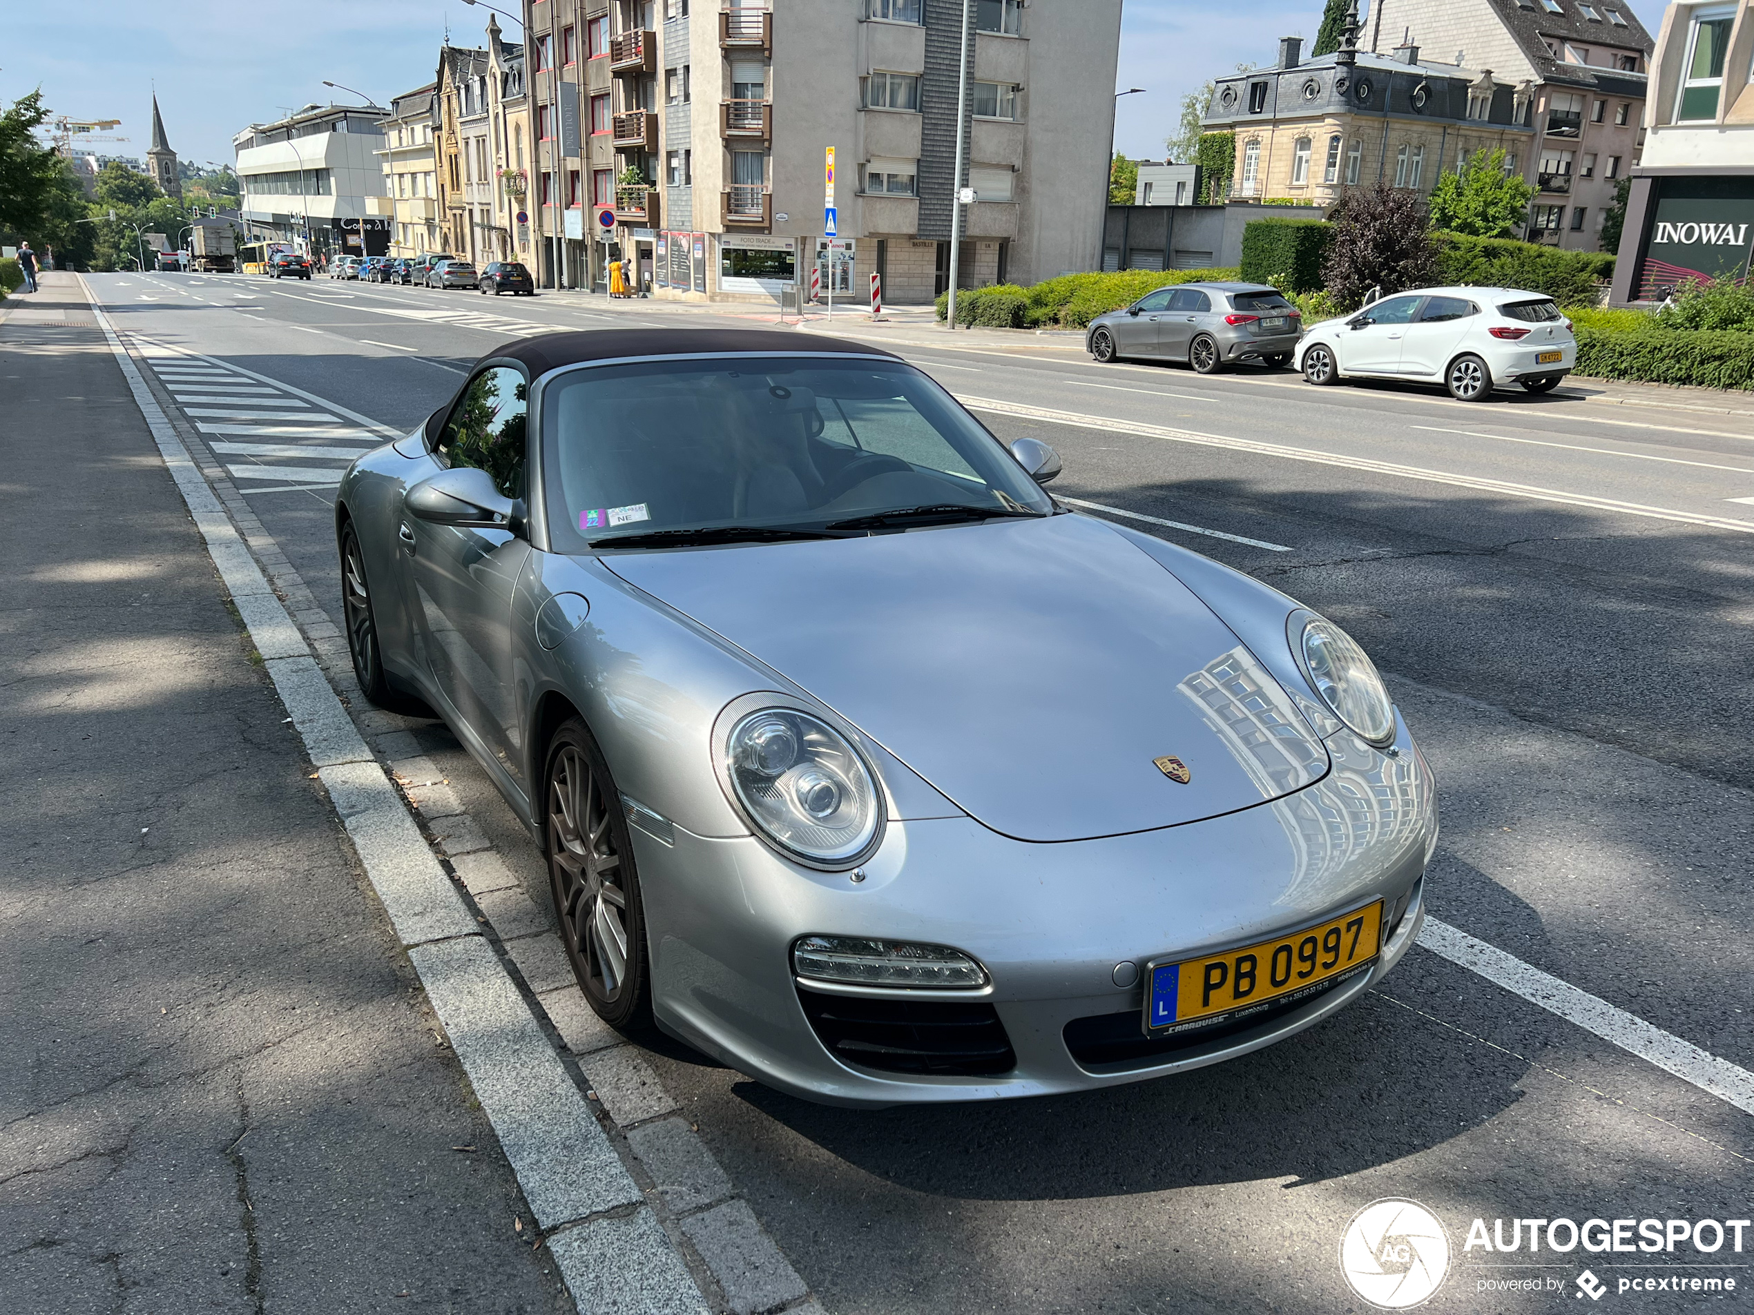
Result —
[{"label": "low white building with horizontal window bands, far left down the street", "polygon": [[391,219],[379,214],[384,119],[377,105],[305,105],[232,139],[240,219],[251,238],[312,254],[382,256]]}]

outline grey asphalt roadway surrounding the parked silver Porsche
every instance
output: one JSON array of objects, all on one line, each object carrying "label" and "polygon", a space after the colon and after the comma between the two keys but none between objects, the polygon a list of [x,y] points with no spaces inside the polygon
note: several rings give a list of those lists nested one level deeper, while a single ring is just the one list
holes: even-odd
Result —
[{"label": "grey asphalt roadway surrounding the parked silver Porsche", "polygon": [[[412,428],[468,361],[530,328],[754,323],[324,279],[91,284],[118,328],[265,380],[235,403],[198,402],[193,380],[184,410],[332,403],[337,426]],[[1733,501],[1754,498],[1745,416],[1570,389],[1468,407],[1415,386],[1200,379],[1096,366],[1056,338],[888,340],[972,405],[998,403],[980,414],[1002,437],[1052,442],[1054,493],[1224,535],[1130,521],[1365,643],[1442,787],[1433,913],[1754,1066],[1754,505]],[[282,456],[258,463],[251,505],[333,600],[328,489],[272,477]],[[423,740],[540,896],[537,856],[486,780],[442,728]],[[1380,1196],[1431,1206],[1458,1252],[1473,1217],[1750,1213],[1754,1119],[1426,950],[1293,1041],[1096,1096],[849,1113],[682,1048],[652,1063],[835,1311],[1359,1306],[1335,1248]],[[1486,1259],[1458,1254],[1468,1268],[1433,1308],[1559,1299],[1479,1294],[1477,1276],[1501,1273],[1473,1268]],[[1586,1262],[1612,1280],[1651,1261],[1517,1259],[1552,1262],[1540,1273],[1565,1297]]]}]

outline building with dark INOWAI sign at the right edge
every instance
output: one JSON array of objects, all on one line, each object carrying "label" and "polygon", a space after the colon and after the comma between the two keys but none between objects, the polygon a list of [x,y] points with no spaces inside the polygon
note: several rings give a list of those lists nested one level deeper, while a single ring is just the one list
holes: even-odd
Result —
[{"label": "building with dark INOWAI sign at the right edge", "polygon": [[1687,279],[1743,279],[1754,256],[1754,2],[1672,4],[1651,67],[1614,268],[1621,303]]}]

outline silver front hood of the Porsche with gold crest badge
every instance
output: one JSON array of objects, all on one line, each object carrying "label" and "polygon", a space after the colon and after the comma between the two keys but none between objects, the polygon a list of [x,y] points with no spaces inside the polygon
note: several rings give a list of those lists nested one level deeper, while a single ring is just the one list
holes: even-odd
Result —
[{"label": "silver front hood of the Porsche with gold crest badge", "polygon": [[602,561],[1017,840],[1193,822],[1328,770],[1230,628],[1091,517]]}]

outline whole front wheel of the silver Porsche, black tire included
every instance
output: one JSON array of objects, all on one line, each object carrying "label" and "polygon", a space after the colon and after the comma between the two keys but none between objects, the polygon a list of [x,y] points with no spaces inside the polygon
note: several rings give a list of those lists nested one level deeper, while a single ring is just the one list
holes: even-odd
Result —
[{"label": "whole front wheel of the silver Porsche, black tire included", "polygon": [[645,912],[626,812],[603,752],[579,717],[549,742],[542,770],[549,889],[579,989],[610,1027],[651,1020]]}]

